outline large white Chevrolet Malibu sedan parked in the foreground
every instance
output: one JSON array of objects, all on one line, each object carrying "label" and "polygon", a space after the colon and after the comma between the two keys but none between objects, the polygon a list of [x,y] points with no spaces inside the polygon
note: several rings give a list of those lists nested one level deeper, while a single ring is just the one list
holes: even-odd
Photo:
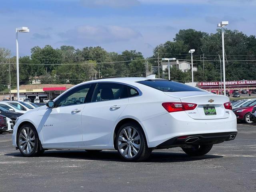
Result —
[{"label": "large white Chevrolet Malibu sedan parked in the foreground", "polygon": [[20,116],[12,142],[24,156],[117,150],[125,160],[141,161],[161,148],[204,155],[236,134],[226,96],[163,79],[109,78],[78,84]]}]

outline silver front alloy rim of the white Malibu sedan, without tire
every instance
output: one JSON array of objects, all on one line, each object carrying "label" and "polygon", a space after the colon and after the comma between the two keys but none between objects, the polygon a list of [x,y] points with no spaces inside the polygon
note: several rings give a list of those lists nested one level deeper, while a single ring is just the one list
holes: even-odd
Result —
[{"label": "silver front alloy rim of the white Malibu sedan, without tire", "polygon": [[31,128],[24,127],[20,131],[19,146],[24,154],[30,154],[35,147],[35,135]]}]

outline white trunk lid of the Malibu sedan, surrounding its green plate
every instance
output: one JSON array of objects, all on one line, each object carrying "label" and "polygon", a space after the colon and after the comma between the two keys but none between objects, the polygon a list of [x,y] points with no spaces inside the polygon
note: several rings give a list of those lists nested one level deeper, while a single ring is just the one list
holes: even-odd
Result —
[{"label": "white trunk lid of the Malibu sedan, surrounding its green plate", "polygon": [[[228,118],[229,111],[224,108],[224,103],[229,102],[229,98],[209,92],[165,92],[166,95],[179,98],[184,103],[194,103],[197,107],[194,110],[185,111],[193,119],[221,119]],[[205,108],[215,108],[216,115],[206,115]]]}]

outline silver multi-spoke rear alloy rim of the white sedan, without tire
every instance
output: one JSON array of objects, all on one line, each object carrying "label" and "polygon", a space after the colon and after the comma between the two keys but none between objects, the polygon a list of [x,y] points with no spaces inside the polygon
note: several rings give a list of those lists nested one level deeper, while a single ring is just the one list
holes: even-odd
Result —
[{"label": "silver multi-spoke rear alloy rim of the white sedan, without tire", "polygon": [[141,138],[138,131],[132,127],[124,127],[118,136],[118,150],[125,158],[134,158],[140,150]]}]

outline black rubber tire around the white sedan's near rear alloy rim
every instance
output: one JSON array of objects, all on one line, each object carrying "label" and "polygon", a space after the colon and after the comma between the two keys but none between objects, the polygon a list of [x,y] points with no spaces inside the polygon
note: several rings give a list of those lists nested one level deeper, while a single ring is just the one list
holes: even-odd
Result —
[{"label": "black rubber tire around the white sedan's near rear alloy rim", "polygon": [[[125,157],[120,152],[120,149],[118,146],[118,138],[119,138],[120,132],[126,127],[132,127],[134,129],[136,129],[136,131],[138,132],[138,135],[140,136],[140,148],[138,150],[138,153],[132,158]],[[116,148],[117,148],[117,151],[118,151],[118,154],[120,155],[120,157],[129,162],[138,162],[138,161],[146,160],[152,152],[152,148],[148,148],[148,145],[146,142],[146,137],[145,137],[144,133],[142,132],[142,128],[140,127],[140,125],[138,125],[134,122],[128,122],[128,123],[125,123],[120,126],[120,128],[118,129],[118,132],[116,134],[115,142],[116,142]]]}]

